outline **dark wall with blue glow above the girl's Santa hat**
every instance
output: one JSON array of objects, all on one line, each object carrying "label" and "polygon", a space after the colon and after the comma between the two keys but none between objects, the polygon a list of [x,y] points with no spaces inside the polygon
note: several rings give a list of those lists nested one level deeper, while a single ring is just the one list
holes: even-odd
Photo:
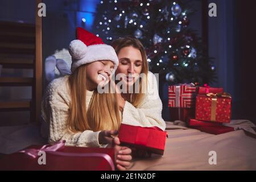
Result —
[{"label": "dark wall with blue glow above the girl's Santa hat", "polygon": [[[68,48],[75,39],[77,26],[92,31],[92,23],[99,0],[44,0],[47,15],[43,18],[43,58],[56,49]],[[81,19],[86,18],[82,24]]]}]

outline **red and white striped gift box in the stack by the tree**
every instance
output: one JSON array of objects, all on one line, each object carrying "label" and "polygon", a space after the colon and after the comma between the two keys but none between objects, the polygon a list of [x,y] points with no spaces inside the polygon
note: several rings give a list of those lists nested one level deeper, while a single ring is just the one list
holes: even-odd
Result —
[{"label": "red and white striped gift box in the stack by the tree", "polygon": [[172,85],[168,87],[169,107],[195,107],[196,86],[193,84]]}]

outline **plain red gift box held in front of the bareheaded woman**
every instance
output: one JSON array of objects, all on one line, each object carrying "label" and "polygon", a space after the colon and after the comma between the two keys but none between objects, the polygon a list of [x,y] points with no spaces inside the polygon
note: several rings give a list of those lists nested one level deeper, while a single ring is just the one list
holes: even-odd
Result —
[{"label": "plain red gift box held in front of the bareheaded woman", "polygon": [[118,138],[121,144],[163,155],[167,133],[158,127],[141,127],[121,124]]}]

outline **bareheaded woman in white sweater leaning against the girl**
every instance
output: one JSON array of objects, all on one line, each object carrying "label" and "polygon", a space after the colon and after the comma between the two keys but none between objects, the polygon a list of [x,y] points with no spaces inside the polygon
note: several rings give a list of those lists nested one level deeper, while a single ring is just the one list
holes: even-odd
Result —
[{"label": "bareheaded woman in white sweater leaning against the girl", "polygon": [[[157,126],[166,129],[162,119],[162,101],[159,98],[156,77],[148,71],[146,52],[142,43],[131,37],[119,38],[112,46],[117,53],[119,65],[115,75],[122,75],[122,85],[126,90],[135,90],[136,83],[139,92],[123,93],[120,90],[118,105],[122,111],[122,123],[131,123],[143,127]],[[145,77],[138,76],[143,73]],[[144,92],[143,92],[144,90]]]}]

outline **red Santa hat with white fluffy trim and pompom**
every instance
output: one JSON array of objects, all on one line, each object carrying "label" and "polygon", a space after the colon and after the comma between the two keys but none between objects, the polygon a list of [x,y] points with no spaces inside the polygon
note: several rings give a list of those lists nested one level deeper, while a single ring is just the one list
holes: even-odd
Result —
[{"label": "red Santa hat with white fluffy trim and pompom", "polygon": [[113,61],[114,71],[117,69],[118,57],[112,46],[104,44],[101,38],[81,27],[76,28],[76,39],[69,44],[68,48],[72,56],[72,72],[83,64],[99,60]]}]

